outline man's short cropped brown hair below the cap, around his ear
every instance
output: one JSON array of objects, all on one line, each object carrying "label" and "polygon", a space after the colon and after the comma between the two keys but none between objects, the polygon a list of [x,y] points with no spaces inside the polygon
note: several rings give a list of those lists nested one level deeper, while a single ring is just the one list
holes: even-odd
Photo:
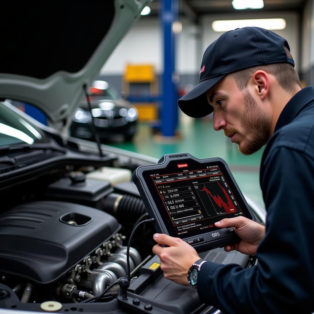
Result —
[{"label": "man's short cropped brown hair below the cap, around his ear", "polygon": [[[292,55],[286,46],[284,46],[284,50],[287,53],[287,57],[292,59]],[[236,79],[238,88],[240,90],[243,90],[246,88],[247,83],[252,77],[253,73],[255,73],[257,70],[263,70],[266,73],[273,74],[277,79],[279,85],[289,93],[295,91],[296,85],[301,87],[299,75],[295,71],[295,68],[289,63],[265,64],[236,71],[234,73],[231,73],[230,75],[232,75]]]}]

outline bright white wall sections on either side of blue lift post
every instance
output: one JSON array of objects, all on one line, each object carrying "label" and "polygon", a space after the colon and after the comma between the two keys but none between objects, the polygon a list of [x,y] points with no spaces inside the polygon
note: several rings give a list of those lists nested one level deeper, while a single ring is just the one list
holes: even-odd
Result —
[{"label": "bright white wall sections on either side of blue lift post", "polygon": [[[181,74],[193,74],[196,63],[195,25],[182,19],[182,32],[176,36],[176,70]],[[163,72],[163,41],[158,18],[139,20],[127,33],[101,69],[102,75],[122,74],[127,63],[153,64],[156,73]]]}]

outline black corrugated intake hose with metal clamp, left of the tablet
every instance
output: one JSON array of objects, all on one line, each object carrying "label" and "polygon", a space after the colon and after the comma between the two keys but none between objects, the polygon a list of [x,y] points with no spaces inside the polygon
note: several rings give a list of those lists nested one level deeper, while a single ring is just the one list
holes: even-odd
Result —
[{"label": "black corrugated intake hose with metal clamp, left of the tablet", "polygon": [[117,193],[110,193],[103,201],[103,210],[125,220],[138,219],[147,213],[142,199]]}]

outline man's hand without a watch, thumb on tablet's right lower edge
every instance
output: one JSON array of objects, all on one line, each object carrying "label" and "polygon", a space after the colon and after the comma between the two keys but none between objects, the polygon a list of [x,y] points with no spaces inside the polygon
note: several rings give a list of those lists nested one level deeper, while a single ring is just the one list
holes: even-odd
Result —
[{"label": "man's hand without a watch, thumb on tablet's right lower edge", "polygon": [[245,217],[225,218],[215,223],[219,228],[233,227],[241,241],[225,246],[225,251],[237,250],[243,254],[256,255],[259,242],[265,236],[265,227]]}]

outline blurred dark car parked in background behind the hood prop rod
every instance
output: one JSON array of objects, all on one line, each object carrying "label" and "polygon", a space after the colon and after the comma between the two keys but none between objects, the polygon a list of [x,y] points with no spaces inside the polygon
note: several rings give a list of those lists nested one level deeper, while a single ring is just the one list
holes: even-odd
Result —
[{"label": "blurred dark car parked in background behind the hood prop rod", "polygon": [[[97,80],[89,89],[89,99],[96,131],[102,141],[123,137],[130,141],[136,133],[138,111],[123,99],[108,82]],[[71,136],[94,140],[92,118],[87,99],[76,109],[70,127]]]}]

